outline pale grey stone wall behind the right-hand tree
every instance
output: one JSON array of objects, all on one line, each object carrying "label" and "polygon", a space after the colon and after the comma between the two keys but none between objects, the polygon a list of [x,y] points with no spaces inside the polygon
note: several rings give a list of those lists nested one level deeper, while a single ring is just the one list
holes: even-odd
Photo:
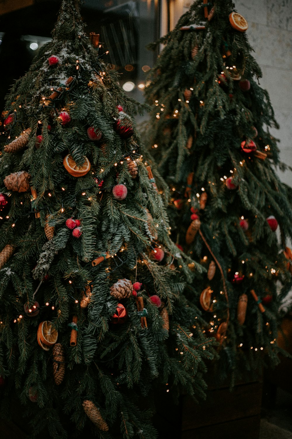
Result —
[{"label": "pale grey stone wall behind the right-hand tree", "polygon": [[[292,0],[233,1],[249,24],[247,35],[255,50],[253,56],[263,72],[260,86],[268,91],[280,125],[272,134],[280,139],[281,161],[292,166]],[[191,3],[184,0],[181,13]],[[280,174],[280,178],[292,186],[291,171]]]}]

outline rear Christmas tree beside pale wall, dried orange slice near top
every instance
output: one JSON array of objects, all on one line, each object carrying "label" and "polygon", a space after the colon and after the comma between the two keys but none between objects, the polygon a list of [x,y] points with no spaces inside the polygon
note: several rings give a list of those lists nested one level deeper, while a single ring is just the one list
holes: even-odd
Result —
[{"label": "rear Christmas tree beside pale wall, dried orange slice near top", "polygon": [[247,27],[230,0],[195,1],[151,45],[165,47],[145,90],[173,240],[206,268],[189,290],[221,344],[222,378],[278,361],[278,306],[291,288],[292,191],[275,173],[287,166]]}]

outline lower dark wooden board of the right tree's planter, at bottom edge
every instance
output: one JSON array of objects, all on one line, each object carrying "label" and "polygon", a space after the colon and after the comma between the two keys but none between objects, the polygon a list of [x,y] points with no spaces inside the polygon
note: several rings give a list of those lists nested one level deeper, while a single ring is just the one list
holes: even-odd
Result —
[{"label": "lower dark wooden board of the right tree's planter, at bottom edge", "polygon": [[181,439],[259,439],[259,437],[260,415],[186,430],[181,435]]}]

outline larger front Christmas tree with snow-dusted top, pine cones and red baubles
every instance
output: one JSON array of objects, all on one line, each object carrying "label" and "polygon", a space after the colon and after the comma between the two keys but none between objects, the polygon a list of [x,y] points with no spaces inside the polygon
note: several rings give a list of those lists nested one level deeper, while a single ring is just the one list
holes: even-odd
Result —
[{"label": "larger front Christmas tree with snow-dusted top, pine cones and red baubles", "polygon": [[203,396],[213,356],[128,114],[141,105],[106,54],[79,1],[63,0],[53,40],[7,97],[1,417],[20,401],[34,437],[153,439],[144,397],[159,385]]}]

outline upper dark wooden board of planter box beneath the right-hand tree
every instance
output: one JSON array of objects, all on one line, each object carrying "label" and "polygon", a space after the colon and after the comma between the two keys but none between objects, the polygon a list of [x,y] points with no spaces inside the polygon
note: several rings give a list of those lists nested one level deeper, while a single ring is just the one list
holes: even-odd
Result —
[{"label": "upper dark wooden board of planter box beneath the right-hand tree", "polygon": [[[209,390],[207,399],[196,404],[183,397],[182,430],[214,425],[260,414],[262,383],[255,382],[228,388]],[[217,438],[218,439],[218,438]]]}]

